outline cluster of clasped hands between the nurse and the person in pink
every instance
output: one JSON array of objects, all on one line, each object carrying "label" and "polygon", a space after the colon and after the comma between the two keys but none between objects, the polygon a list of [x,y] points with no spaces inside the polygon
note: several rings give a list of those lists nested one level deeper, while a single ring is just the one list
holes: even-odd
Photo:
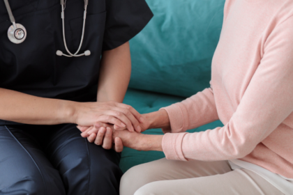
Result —
[{"label": "cluster of clasped hands between the nurse and the person in pink", "polygon": [[141,132],[150,126],[147,114],[139,114],[133,107],[117,102],[100,103],[98,111],[103,114],[95,117],[93,125],[83,125],[77,121],[82,137],[107,150],[113,146],[117,152],[121,152],[123,146],[142,150],[139,146],[143,136]]}]

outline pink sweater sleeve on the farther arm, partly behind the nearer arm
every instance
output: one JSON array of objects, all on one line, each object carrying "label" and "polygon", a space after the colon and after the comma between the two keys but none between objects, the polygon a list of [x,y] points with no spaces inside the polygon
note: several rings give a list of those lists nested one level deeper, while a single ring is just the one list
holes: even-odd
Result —
[{"label": "pink sweater sleeve on the farther arm, partly behind the nearer arm", "polygon": [[170,129],[163,132],[186,132],[201,125],[218,120],[212,88],[206,88],[182,102],[163,108],[170,119]]}]

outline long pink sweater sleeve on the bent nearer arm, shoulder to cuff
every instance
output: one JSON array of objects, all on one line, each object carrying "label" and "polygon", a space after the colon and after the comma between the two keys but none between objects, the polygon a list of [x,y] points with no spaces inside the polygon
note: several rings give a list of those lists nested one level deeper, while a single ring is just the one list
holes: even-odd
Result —
[{"label": "long pink sweater sleeve on the bent nearer arm, shoulder to cuff", "polygon": [[[271,31],[263,49],[260,65],[230,121],[224,127],[205,132],[165,134],[162,144],[167,159],[216,161],[245,157],[290,116],[293,17]],[[197,115],[198,112],[195,118]]]}]

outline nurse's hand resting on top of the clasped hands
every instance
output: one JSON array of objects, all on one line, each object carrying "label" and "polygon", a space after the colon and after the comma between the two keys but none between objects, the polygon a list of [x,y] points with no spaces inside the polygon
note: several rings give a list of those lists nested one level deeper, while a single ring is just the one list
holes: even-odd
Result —
[{"label": "nurse's hand resting on top of the clasped hands", "polygon": [[[117,102],[77,102],[74,111],[75,123],[91,127],[97,122],[110,123],[115,130],[128,129],[141,132],[144,118],[133,107]],[[100,124],[98,123],[98,124]]]}]

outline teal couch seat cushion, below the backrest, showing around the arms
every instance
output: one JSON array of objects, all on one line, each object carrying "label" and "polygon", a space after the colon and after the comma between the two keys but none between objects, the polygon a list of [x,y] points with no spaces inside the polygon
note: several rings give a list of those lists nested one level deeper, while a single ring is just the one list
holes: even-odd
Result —
[{"label": "teal couch seat cushion, below the backrest, showing around the arms", "polygon": [[[181,102],[183,98],[172,96],[172,95],[163,95],[160,93],[150,93],[146,91],[138,91],[129,89],[126,93],[126,98],[124,99],[125,104],[130,104],[140,113],[149,113],[152,111],[157,111],[161,107],[167,107],[170,104],[175,102]],[[220,121],[215,121],[209,123],[202,127],[198,127],[194,130],[189,130],[188,132],[201,132],[204,130],[213,129],[215,127],[223,126]],[[147,130],[145,134],[163,134],[160,129]],[[130,148],[124,148],[121,156],[120,168],[123,172],[126,172],[132,166],[137,164],[142,164],[145,162],[151,162],[156,159],[163,158],[164,153],[156,151],[137,151]]]}]

